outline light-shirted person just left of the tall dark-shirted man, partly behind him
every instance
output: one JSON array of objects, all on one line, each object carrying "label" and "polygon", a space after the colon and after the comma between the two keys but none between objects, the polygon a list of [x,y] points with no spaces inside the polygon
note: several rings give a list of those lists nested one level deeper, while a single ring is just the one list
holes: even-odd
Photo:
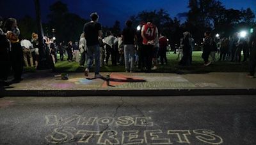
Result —
[{"label": "light-shirted person just left of the tall dark-shirted man, partly behind him", "polygon": [[81,34],[79,40],[79,52],[81,54],[80,66],[84,66],[84,62],[87,62],[87,47],[86,47],[86,39],[84,38],[84,33]]}]

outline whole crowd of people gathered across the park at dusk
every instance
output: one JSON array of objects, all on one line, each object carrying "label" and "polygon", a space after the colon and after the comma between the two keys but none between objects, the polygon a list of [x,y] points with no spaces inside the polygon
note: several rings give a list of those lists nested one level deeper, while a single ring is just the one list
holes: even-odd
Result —
[{"label": "whole crowd of people gathered across the park at dusk", "polygon": [[[100,67],[110,66],[109,59],[111,59],[111,66],[124,66],[126,72],[150,72],[157,69],[158,64],[168,64],[166,57],[168,39],[158,31],[152,20],[141,22],[138,30],[132,27],[131,20],[127,20],[121,34],[112,34],[111,31],[107,31],[104,37],[97,13],[92,13],[90,17],[92,21],[84,24],[84,32],[79,41],[56,44],[54,38],[44,37],[45,49],[49,50],[53,64],[58,61],[57,53],[60,53],[61,61],[64,61],[64,55],[67,55],[68,62],[76,61],[81,67],[86,66],[84,75],[88,76],[94,63],[95,78],[102,78],[99,73]],[[2,25],[3,18],[0,20],[0,28]],[[187,31],[183,36],[179,45],[179,65],[190,66],[195,41]],[[38,34],[31,34],[31,41],[23,38],[20,35],[17,20],[8,18],[3,29],[0,29],[0,39],[0,59],[1,66],[4,68],[1,71],[1,83],[5,83],[4,80],[8,78],[10,67],[13,70],[12,83],[18,83],[22,80],[23,66],[38,67],[40,59]],[[216,39],[212,37],[211,32],[207,31],[202,43],[204,66],[209,66],[216,60],[241,62],[243,50],[243,61],[250,59],[248,77],[252,78],[256,65],[255,47],[255,33],[250,39],[239,37],[239,34]],[[210,56],[211,60],[209,60]]]}]

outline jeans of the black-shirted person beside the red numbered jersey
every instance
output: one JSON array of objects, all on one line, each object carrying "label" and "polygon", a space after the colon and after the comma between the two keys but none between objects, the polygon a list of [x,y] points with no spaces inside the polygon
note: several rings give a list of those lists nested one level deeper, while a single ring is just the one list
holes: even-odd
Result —
[{"label": "jeans of the black-shirted person beside the red numbered jersey", "polygon": [[[124,45],[124,60],[125,70],[134,71],[134,45]],[[129,58],[131,58],[131,64],[129,65]]]}]

